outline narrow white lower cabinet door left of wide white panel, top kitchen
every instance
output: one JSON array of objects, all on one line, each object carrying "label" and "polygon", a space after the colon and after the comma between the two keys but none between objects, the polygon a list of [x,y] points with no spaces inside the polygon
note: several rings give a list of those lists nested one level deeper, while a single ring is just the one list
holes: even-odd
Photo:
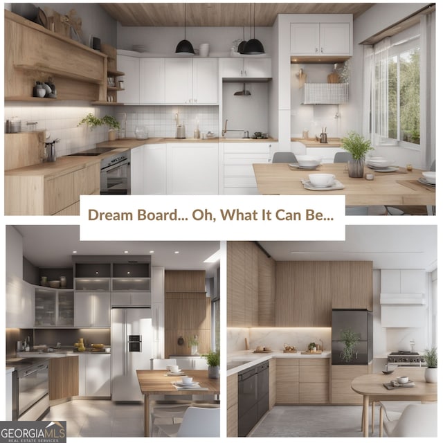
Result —
[{"label": "narrow white lower cabinet door left of wide white panel, top kitchen", "polygon": [[143,146],[143,194],[166,195],[166,151],[165,143]]}]

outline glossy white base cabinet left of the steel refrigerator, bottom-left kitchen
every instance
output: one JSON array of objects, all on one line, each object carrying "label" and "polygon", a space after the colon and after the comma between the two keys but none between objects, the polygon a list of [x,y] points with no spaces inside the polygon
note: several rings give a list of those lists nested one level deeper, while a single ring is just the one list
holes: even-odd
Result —
[{"label": "glossy white base cabinet left of the steel refrigerator, bottom-left kitchen", "polygon": [[78,395],[111,396],[111,354],[79,354]]}]

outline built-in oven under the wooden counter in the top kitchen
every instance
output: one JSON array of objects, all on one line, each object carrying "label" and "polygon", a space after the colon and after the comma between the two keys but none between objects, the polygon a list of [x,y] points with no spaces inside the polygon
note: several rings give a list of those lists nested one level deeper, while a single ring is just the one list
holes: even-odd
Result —
[{"label": "built-in oven under the wooden counter in the top kitchen", "polygon": [[129,195],[131,193],[131,161],[129,150],[100,161],[100,194]]}]

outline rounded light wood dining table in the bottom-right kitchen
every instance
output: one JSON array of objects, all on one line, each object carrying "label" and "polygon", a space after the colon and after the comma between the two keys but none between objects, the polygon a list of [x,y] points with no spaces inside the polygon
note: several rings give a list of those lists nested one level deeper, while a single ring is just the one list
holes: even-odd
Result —
[{"label": "rounded light wood dining table in the bottom-right kitchen", "polygon": [[[352,380],[351,388],[363,395],[363,437],[369,436],[369,404],[370,401],[437,401],[437,383],[426,383],[425,368],[396,368],[392,374],[375,372],[365,374]],[[383,383],[406,375],[415,383],[412,388],[387,389]]]}]

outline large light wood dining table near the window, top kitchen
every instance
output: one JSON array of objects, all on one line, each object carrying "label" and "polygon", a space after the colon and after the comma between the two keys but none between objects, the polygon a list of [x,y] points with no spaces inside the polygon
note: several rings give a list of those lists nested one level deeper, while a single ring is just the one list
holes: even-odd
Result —
[{"label": "large light wood dining table near the window, top kitchen", "polygon": [[[325,163],[314,171],[292,170],[288,163],[254,163],[253,169],[262,195],[345,195],[347,206],[435,206],[435,186],[420,183],[422,170],[415,168],[376,172],[365,166],[364,174],[372,174],[373,180],[350,178],[347,163]],[[302,179],[316,173],[334,174],[344,189],[305,189]]]}]

